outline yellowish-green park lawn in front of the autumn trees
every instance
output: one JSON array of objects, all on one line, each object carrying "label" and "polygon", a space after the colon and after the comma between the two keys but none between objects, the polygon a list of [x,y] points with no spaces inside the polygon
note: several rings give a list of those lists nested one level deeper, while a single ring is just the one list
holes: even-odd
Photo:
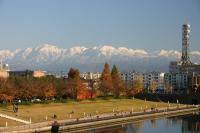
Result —
[{"label": "yellowish-green park lawn in front of the autumn trees", "polygon": [[[12,106],[1,107],[0,113],[14,116],[27,121],[42,122],[47,120],[55,120],[53,115],[57,116],[57,120],[80,118],[88,115],[98,115],[103,113],[112,113],[114,111],[140,111],[151,107],[167,107],[168,103],[150,102],[138,99],[110,99],[110,100],[83,100],[70,101],[67,103],[49,103],[49,104],[32,104],[19,105],[18,113],[13,113]],[[171,106],[175,106],[171,104]],[[73,114],[71,112],[74,112]],[[71,117],[70,117],[71,116]]]}]

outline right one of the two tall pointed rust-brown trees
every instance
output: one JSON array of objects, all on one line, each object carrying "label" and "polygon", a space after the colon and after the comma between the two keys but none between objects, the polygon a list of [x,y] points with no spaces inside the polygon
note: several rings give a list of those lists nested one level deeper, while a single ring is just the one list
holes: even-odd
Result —
[{"label": "right one of the two tall pointed rust-brown trees", "polygon": [[113,65],[112,72],[112,93],[115,98],[118,98],[120,96],[120,93],[124,90],[123,82],[120,78],[120,73],[116,67],[116,65]]}]

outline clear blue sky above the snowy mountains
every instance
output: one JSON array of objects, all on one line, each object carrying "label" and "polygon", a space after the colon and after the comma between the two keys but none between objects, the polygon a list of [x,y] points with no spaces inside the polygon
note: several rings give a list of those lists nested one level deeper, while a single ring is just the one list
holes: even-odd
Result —
[{"label": "clear blue sky above the snowy mountains", "polygon": [[191,24],[200,49],[200,0],[0,0],[0,50],[105,44],[181,50],[181,26]]}]

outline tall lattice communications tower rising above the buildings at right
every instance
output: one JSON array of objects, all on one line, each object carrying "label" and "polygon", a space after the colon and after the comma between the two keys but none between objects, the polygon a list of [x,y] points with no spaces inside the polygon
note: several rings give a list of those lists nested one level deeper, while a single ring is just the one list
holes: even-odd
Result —
[{"label": "tall lattice communications tower rising above the buildings at right", "polygon": [[189,35],[190,35],[190,25],[183,24],[182,26],[182,56],[181,56],[182,65],[191,64],[190,57],[189,57]]}]

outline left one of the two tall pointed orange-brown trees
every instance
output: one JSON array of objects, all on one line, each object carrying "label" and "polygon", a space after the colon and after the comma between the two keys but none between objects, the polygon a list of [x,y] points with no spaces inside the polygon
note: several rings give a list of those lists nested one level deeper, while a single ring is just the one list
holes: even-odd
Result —
[{"label": "left one of the two tall pointed orange-brown trees", "polygon": [[99,90],[103,93],[104,96],[107,96],[112,90],[112,76],[110,73],[110,67],[108,63],[105,63],[104,70],[100,78],[100,87]]}]

